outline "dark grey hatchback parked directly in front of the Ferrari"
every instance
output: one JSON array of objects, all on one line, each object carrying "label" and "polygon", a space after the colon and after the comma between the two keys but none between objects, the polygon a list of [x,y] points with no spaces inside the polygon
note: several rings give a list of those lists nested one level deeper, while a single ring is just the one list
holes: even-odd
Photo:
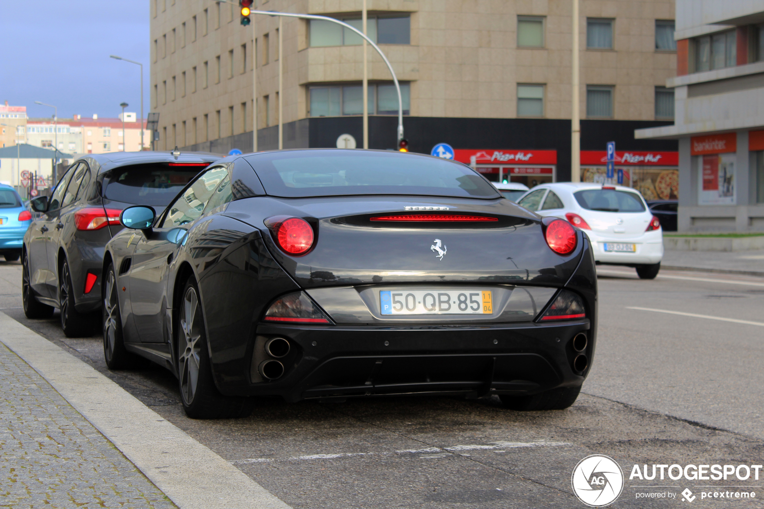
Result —
[{"label": "dark grey hatchback parked directly in front of the Ferrari", "polygon": [[119,230],[120,212],[151,205],[160,214],[211,153],[118,152],[76,159],[50,198],[31,201],[37,212],[21,251],[22,297],[28,318],[61,311],[67,337],[89,333],[101,308],[104,247]]}]

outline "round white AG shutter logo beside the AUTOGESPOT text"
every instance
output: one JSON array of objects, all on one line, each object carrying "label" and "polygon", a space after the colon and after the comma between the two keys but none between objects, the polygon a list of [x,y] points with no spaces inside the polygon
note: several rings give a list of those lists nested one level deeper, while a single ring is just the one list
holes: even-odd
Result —
[{"label": "round white AG shutter logo beside the AUTOGESPOT text", "polygon": [[620,497],[623,470],[609,456],[593,454],[575,466],[571,485],[578,500],[589,507],[604,507]]}]

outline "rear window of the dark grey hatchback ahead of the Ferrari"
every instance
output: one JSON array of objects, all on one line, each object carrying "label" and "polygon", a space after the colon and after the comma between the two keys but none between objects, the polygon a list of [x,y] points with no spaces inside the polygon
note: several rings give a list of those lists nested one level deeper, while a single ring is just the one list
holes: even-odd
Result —
[{"label": "rear window of the dark grey hatchback ahead of the Ferrari", "polygon": [[120,166],[103,179],[103,196],[134,205],[164,207],[202,169],[204,166],[170,166],[170,163]]}]

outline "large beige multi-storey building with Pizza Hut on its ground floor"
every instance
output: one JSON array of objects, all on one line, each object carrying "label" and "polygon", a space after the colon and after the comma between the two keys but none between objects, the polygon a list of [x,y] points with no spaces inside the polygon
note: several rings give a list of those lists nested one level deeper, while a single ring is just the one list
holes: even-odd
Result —
[{"label": "large beige multi-storey building with Pizza Hut on its ground floor", "polygon": [[[646,172],[676,169],[675,140],[633,134],[672,123],[673,90],[665,85],[676,72],[674,2],[580,3],[584,178],[601,178],[605,144],[615,140],[626,183],[639,187]],[[354,27],[361,26],[361,5],[257,2],[263,10],[322,14]],[[569,0],[367,0],[367,13],[367,34],[400,80],[411,150],[450,143],[458,159],[474,161],[492,180],[570,179]],[[252,16],[253,34],[235,5],[209,0],[151,0],[150,15],[151,109],[160,113],[161,149],[248,151],[255,120],[259,150],[278,147],[279,121],[284,148],[344,147],[345,134],[362,146],[356,34],[328,21],[262,15]],[[371,47],[367,53],[370,148],[392,149],[397,95],[387,66]]]}]

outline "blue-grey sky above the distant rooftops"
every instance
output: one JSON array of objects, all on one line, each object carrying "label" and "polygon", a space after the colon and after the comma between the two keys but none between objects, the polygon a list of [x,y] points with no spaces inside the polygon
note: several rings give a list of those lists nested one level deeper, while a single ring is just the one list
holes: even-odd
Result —
[{"label": "blue-grey sky above the distant rooftops", "polygon": [[149,0],[0,0],[0,104],[26,106],[30,117],[116,117],[149,111]]}]

